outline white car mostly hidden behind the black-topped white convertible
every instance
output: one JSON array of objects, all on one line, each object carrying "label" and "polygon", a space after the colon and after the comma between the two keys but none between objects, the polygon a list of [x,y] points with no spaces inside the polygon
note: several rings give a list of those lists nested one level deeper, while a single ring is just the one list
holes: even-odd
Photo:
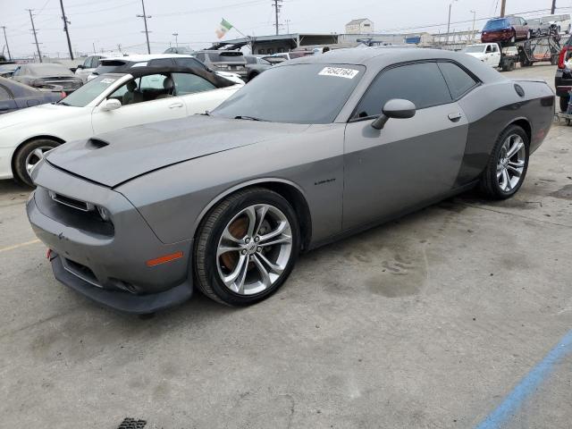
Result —
[{"label": "white car mostly hidden behind the black-topped white convertible", "polygon": [[[105,58],[99,61],[99,66],[93,73],[88,76],[88,80],[94,79],[96,76],[114,72],[124,67],[162,67],[162,66],[176,66],[176,67],[189,67],[199,68],[210,71],[204,63],[198,61],[197,58],[191,55],[178,55],[178,54],[157,54],[157,55],[128,55],[120,56],[117,58]],[[229,73],[224,71],[216,71],[216,74],[232,80],[234,83],[242,84],[243,80],[236,73]]]}]

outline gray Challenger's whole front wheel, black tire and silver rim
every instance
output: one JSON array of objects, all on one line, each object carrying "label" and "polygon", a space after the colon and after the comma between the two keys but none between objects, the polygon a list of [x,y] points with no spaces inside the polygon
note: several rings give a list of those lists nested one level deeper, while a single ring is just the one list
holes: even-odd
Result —
[{"label": "gray Challenger's whole front wheel, black tire and silver rim", "polygon": [[[256,218],[255,223],[248,214]],[[258,225],[252,227],[252,234],[250,224]],[[276,231],[280,233],[265,239]],[[232,194],[214,206],[198,228],[194,257],[198,290],[231,307],[268,298],[296,263],[299,235],[296,213],[280,194],[264,188]],[[276,240],[280,243],[265,244]]]}]

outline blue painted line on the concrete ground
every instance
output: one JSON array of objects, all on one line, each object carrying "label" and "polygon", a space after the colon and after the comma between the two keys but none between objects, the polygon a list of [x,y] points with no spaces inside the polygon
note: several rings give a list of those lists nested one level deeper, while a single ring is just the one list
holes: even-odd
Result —
[{"label": "blue painted line on the concrete ground", "polygon": [[497,429],[504,425],[510,417],[514,416],[523,401],[530,396],[540,383],[543,383],[554,370],[554,366],[572,352],[572,331],[569,331],[559,343],[551,349],[542,362],[526,374],[526,377],[502,401],[501,405],[486,416],[475,429]]}]

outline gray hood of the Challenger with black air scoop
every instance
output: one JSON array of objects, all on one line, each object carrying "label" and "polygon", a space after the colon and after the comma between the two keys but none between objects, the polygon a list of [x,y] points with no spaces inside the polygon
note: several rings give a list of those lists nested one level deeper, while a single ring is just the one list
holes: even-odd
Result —
[{"label": "gray hood of the Challenger with black air scoop", "polygon": [[309,125],[194,115],[72,141],[51,151],[49,164],[115,187],[168,165],[307,130]]}]

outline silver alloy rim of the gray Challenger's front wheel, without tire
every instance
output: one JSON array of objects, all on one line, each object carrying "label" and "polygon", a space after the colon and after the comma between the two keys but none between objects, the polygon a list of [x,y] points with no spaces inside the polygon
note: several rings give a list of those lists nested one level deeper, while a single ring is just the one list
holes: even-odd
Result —
[{"label": "silver alloy rim of the gray Challenger's front wheel, without tire", "polygon": [[216,267],[223,284],[240,295],[270,288],[292,255],[292,230],[275,206],[256,204],[236,214],[224,227],[216,248]]}]

